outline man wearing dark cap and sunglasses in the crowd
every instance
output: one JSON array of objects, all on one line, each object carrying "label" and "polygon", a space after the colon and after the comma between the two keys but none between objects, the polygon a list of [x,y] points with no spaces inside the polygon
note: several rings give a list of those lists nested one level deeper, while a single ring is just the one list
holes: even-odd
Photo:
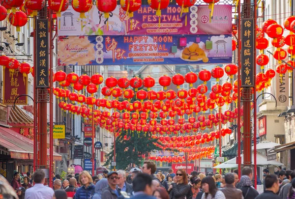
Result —
[{"label": "man wearing dark cap and sunglasses in the crowd", "polygon": [[107,175],[108,186],[102,191],[102,199],[118,199],[121,195],[118,191],[118,173],[116,171],[111,171]]}]

